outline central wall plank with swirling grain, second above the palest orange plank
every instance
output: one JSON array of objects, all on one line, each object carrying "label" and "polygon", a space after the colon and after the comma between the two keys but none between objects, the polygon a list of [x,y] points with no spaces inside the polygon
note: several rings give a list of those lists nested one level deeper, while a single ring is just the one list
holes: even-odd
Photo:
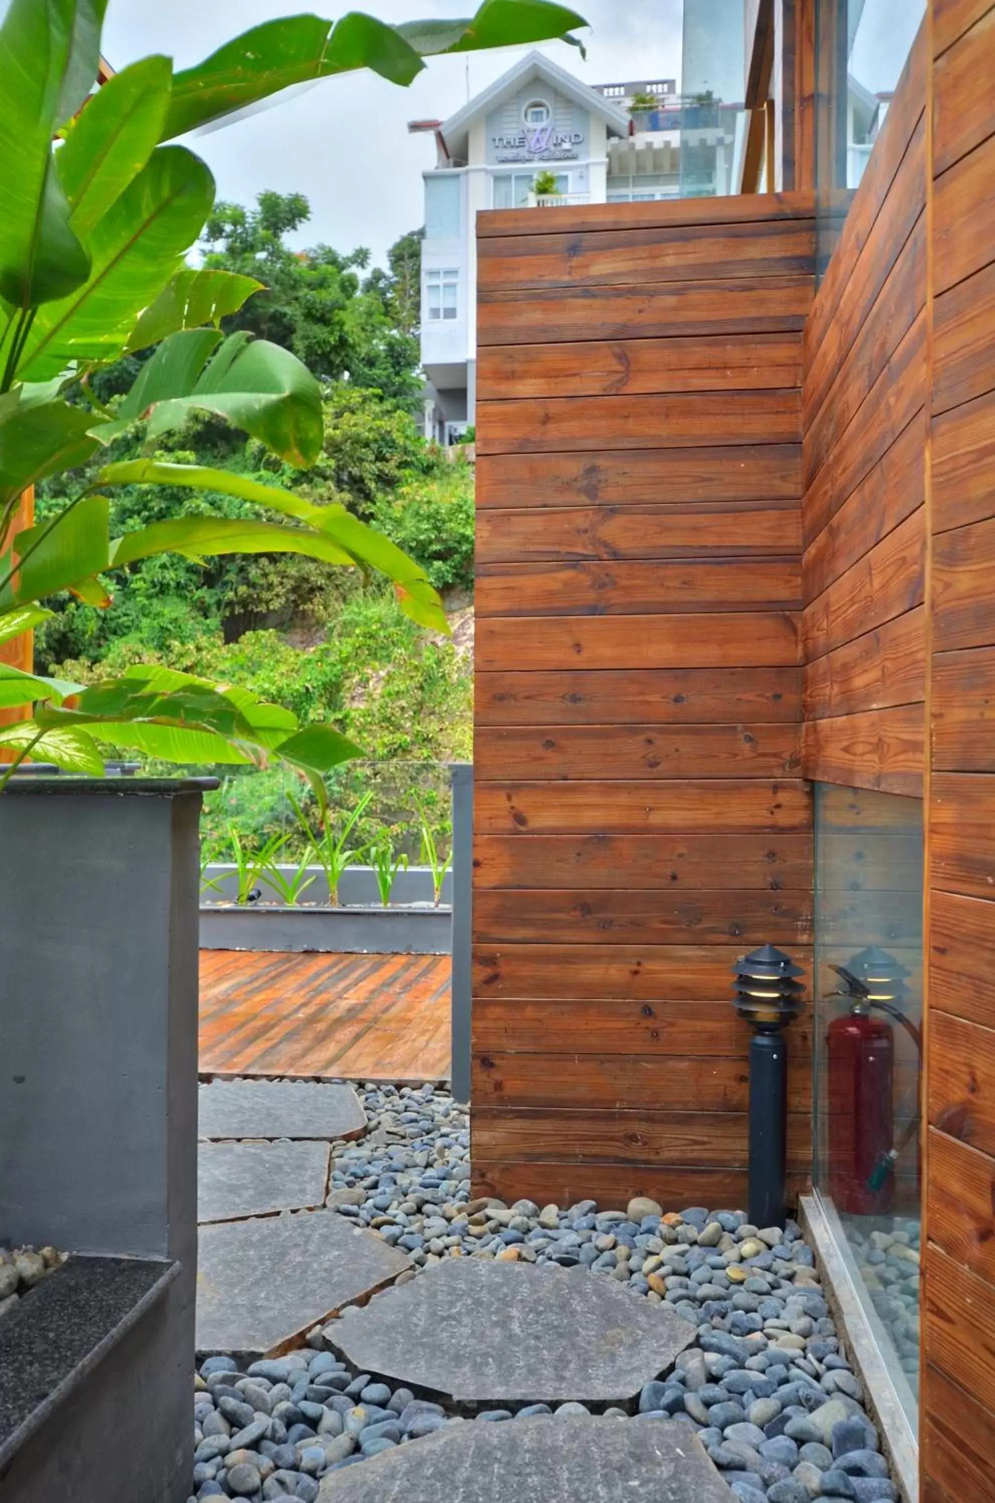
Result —
[{"label": "central wall plank with swirling grain, second above the palest orange plank", "polygon": [[675,559],[779,556],[801,552],[801,507],[750,500],[663,507],[484,510],[476,565],[541,559]]}]

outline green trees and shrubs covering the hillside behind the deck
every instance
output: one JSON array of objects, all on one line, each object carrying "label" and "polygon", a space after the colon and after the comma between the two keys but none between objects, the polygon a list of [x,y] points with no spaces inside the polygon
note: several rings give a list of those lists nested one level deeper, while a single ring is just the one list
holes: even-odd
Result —
[{"label": "green trees and shrubs covering the hillside behind the deck", "polygon": [[[302,718],[334,721],[371,764],[437,764],[469,759],[472,738],[473,472],[427,445],[413,409],[419,401],[419,236],[404,236],[389,269],[368,268],[364,251],[340,256],[319,245],[290,251],[286,237],[307,221],[301,195],[262,194],[253,210],[219,204],[204,233],[206,262],[251,272],[266,284],[234,316],[231,328],[286,344],[322,380],[325,446],[310,470],[293,470],[221,421],[194,418],[158,449],[158,457],[257,475],[301,491],[317,505],[338,502],[394,538],[443,592],[455,624],[452,639],[415,627],[385,585],[352,570],[286,555],[147,559],[116,574],[114,606],[98,612],[68,594],[36,637],[45,672],[92,681],[131,663],[161,663],[203,673],[287,705]],[[227,325],[225,325],[227,326]],[[99,373],[96,397],[111,410],[143,352]],[[113,458],[141,452],[138,430],[123,433]],[[108,458],[107,451],[99,463]],[[95,461],[96,467],[98,461]],[[74,491],[89,479],[72,476]],[[39,517],[57,497],[42,487]],[[256,508],[210,496],[230,517]],[[113,535],[165,517],[207,511],[203,497],[161,485],[131,485],[113,496]],[[233,821],[263,839],[286,815],[283,774],[230,780],[215,800],[210,825]],[[434,791],[437,773],[410,779]],[[253,786],[250,788],[250,782]],[[404,774],[355,765],[338,777],[340,798],[374,786],[376,818],[398,828]],[[281,813],[283,810],[283,813]]]}]

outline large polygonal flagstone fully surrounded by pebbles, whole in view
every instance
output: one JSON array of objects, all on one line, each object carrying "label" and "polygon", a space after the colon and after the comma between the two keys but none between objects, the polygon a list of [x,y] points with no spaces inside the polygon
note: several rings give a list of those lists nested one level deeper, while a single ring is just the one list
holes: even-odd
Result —
[{"label": "large polygonal flagstone fully surrounded by pebbles, whole in view", "polygon": [[451,1258],[325,1336],[358,1372],[502,1407],[625,1402],[691,1345],[694,1327],[586,1269]]}]

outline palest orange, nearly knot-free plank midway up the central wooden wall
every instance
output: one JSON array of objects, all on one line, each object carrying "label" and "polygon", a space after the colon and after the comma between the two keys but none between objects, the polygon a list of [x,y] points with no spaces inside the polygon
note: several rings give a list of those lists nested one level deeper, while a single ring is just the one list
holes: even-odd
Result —
[{"label": "palest orange, nearly knot-free plank midway up the central wooden wall", "polygon": [[800,618],[753,612],[682,616],[487,616],[476,622],[481,672],[543,669],[788,667]]}]

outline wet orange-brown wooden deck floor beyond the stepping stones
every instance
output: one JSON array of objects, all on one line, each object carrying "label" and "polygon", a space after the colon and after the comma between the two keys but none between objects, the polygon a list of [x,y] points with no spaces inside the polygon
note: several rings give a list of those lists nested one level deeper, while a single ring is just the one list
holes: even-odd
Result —
[{"label": "wet orange-brown wooden deck floor beyond the stepping stones", "polygon": [[449,1075],[449,956],[200,951],[200,1070]]}]

